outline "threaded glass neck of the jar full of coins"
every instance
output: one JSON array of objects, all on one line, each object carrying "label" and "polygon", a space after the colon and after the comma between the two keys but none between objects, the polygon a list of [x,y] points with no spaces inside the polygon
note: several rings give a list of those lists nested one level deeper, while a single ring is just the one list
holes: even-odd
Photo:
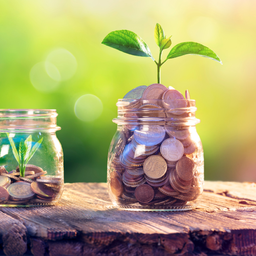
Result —
[{"label": "threaded glass neck of the jar full of coins", "polygon": [[118,125],[187,125],[200,123],[195,117],[195,100],[119,99]]}]

